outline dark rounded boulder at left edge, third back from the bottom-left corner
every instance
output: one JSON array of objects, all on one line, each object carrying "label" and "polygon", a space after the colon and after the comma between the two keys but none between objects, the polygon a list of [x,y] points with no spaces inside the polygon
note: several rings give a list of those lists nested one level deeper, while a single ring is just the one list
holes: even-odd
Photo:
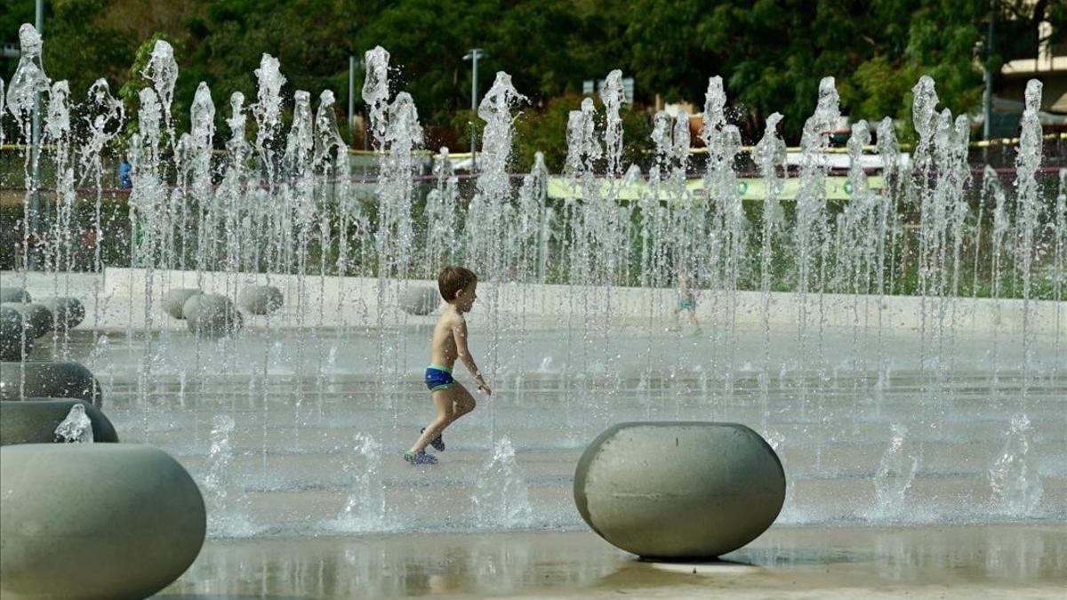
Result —
[{"label": "dark rounded boulder at left edge, third back from the bottom-left corner", "polygon": [[99,408],[100,383],[76,362],[28,361],[0,363],[0,400],[70,398]]}]

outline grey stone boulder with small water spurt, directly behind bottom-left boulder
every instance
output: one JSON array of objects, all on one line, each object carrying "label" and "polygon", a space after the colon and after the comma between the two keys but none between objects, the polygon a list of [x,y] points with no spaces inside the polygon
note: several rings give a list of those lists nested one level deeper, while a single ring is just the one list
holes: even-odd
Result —
[{"label": "grey stone boulder with small water spurt, directly behind bottom-left boulder", "polygon": [[85,415],[93,423],[94,443],[118,441],[111,421],[84,400],[26,398],[25,401],[0,402],[0,446],[54,442],[55,428],[74,405],[84,405]]}]

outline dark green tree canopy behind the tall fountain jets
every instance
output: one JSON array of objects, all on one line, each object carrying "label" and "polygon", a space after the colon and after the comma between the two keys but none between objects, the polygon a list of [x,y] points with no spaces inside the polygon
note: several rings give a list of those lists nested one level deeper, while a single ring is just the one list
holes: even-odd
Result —
[{"label": "dark green tree canopy behind the tall fountain jets", "polygon": [[[991,16],[1003,35],[985,52]],[[32,0],[4,2],[0,38],[15,43],[19,25],[32,20]],[[138,85],[138,49],[154,35],[166,38],[180,69],[180,123],[202,80],[218,106],[234,91],[254,97],[264,52],[281,60],[290,99],[296,90],[317,97],[331,89],[344,112],[349,57],[380,45],[392,54],[394,86],[412,94],[424,124],[455,132],[471,101],[463,54],[480,47],[489,54],[479,63],[481,91],[493,72],[507,70],[530,98],[527,124],[559,121],[566,98],[577,108],[584,80],[621,68],[642,105],[659,97],[700,107],[708,77],[721,75],[747,141],[773,111],[785,115],[782,130],[795,140],[828,75],[854,119],[908,122],[921,75],[935,78],[944,106],[974,112],[983,62],[997,72],[1004,60],[1036,53],[1039,20],[1067,22],[1067,0],[51,0],[44,64],[81,98],[98,77],[112,90]],[[1065,30],[1054,30],[1053,42]],[[15,65],[0,62],[5,81]],[[537,127],[527,128],[534,136]],[[559,142],[564,131],[552,135]],[[451,136],[457,149],[466,139],[462,130]]]}]

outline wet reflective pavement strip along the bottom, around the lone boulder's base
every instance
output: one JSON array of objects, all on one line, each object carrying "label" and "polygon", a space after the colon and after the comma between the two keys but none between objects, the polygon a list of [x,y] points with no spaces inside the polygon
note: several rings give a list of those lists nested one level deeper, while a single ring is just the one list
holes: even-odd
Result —
[{"label": "wet reflective pavement strip along the bottom, around the lone boulder's base", "polygon": [[775,527],[723,560],[672,564],[586,532],[209,540],[159,598],[1063,598],[1065,586],[1055,522]]}]

